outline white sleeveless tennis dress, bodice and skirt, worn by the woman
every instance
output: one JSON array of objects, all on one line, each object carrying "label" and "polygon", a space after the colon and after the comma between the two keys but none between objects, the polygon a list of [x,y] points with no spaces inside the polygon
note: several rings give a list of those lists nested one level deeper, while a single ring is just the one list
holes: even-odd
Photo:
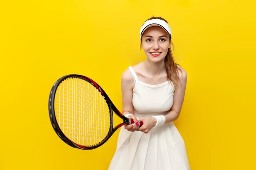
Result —
[{"label": "white sleeveless tennis dress, bodice and skirt, worn by the woman", "polygon": [[[165,115],[173,106],[171,81],[152,85],[134,79],[132,104],[135,117]],[[184,140],[173,122],[152,128],[147,134],[121,127],[117,150],[108,170],[190,170]]]}]

